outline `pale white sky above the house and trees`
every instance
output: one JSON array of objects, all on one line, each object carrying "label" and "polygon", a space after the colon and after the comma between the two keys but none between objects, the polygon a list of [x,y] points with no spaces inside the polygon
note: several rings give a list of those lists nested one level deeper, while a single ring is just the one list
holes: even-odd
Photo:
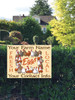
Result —
[{"label": "pale white sky above the house and trees", "polygon": [[[48,0],[52,7],[53,0]],[[0,19],[12,20],[16,15],[29,15],[30,8],[35,0],[0,0]]]}]

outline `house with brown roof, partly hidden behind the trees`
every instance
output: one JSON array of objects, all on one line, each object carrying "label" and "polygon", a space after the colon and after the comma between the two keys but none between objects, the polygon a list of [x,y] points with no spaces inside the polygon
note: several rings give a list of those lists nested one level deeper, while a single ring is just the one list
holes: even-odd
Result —
[{"label": "house with brown roof, partly hidden behind the trees", "polygon": [[[25,16],[23,14],[23,16],[13,16],[13,21],[20,21],[23,18],[28,17]],[[55,18],[54,16],[38,16],[38,15],[34,15],[32,16],[41,26],[43,33],[46,33],[46,25],[48,25],[48,22],[50,22],[53,18]]]}]

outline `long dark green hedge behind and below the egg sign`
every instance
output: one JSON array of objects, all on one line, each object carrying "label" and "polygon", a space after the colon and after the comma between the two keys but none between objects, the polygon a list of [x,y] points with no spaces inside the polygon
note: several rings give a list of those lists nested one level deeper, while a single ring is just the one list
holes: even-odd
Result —
[{"label": "long dark green hedge behind and below the egg sign", "polygon": [[38,97],[40,100],[74,100],[75,48],[52,48],[52,79],[7,79],[5,46],[0,46],[0,58],[0,95],[10,93],[13,87],[21,93],[22,86],[22,93],[27,97]]}]

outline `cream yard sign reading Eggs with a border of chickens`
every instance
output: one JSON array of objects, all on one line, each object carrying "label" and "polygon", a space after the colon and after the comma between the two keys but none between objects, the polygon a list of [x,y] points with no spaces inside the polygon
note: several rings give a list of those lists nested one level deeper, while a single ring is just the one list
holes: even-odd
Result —
[{"label": "cream yard sign reading Eggs with a border of chickens", "polygon": [[51,45],[8,45],[7,78],[51,78]]}]

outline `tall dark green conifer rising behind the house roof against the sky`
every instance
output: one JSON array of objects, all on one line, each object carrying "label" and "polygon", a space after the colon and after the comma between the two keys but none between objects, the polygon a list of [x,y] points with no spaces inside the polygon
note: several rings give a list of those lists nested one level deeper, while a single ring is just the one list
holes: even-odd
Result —
[{"label": "tall dark green conifer rising behind the house roof against the sky", "polygon": [[34,6],[31,8],[30,15],[51,15],[52,9],[47,2],[48,0],[36,0]]}]

